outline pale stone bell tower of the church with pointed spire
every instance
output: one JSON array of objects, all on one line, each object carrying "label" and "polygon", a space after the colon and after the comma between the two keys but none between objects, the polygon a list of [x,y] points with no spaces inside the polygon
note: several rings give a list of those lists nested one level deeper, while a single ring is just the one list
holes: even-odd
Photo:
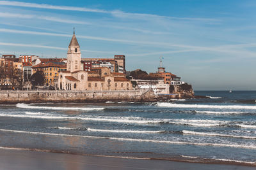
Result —
[{"label": "pale stone bell tower of the church with pointed spire", "polygon": [[68,53],[67,53],[67,71],[71,73],[74,71],[81,70],[81,51],[80,46],[77,42],[75,29],[72,39],[68,45]]}]

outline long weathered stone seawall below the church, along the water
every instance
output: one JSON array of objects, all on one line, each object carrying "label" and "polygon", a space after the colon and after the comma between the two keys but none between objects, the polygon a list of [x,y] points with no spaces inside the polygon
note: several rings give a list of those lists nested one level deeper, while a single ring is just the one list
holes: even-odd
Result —
[{"label": "long weathered stone seawall below the church, along the water", "polygon": [[157,101],[152,90],[40,90],[1,91],[0,104],[6,103],[65,103],[106,101]]}]

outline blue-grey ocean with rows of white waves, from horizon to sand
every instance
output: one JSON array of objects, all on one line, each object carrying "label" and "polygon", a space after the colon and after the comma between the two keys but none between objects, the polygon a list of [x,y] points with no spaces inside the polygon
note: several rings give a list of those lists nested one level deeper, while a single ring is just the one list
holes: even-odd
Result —
[{"label": "blue-grey ocean with rows of white waves, from horizon to sand", "polygon": [[256,166],[256,91],[158,103],[0,105],[0,148]]}]

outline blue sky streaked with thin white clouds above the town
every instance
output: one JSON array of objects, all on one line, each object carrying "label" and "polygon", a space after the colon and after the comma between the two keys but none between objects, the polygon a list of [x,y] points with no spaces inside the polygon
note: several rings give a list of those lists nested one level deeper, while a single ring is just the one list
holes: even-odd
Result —
[{"label": "blue sky streaked with thin white clouds above the town", "polygon": [[256,1],[0,1],[0,54],[125,55],[127,71],[166,71],[194,90],[256,90]]}]

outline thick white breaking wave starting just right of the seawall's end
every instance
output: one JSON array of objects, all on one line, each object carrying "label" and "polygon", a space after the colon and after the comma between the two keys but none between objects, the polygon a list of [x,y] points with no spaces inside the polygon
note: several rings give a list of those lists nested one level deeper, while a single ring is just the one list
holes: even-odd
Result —
[{"label": "thick white breaking wave starting just right of the seawall's end", "polygon": [[207,104],[177,104],[177,103],[157,103],[159,107],[168,108],[216,108],[216,109],[247,109],[256,110],[256,106],[248,105],[207,105]]}]

